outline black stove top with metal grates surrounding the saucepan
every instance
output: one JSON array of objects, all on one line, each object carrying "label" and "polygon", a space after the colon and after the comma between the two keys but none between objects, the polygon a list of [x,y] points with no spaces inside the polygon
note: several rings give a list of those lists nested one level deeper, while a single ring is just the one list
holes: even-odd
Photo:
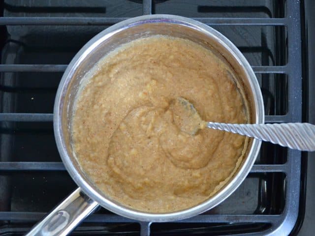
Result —
[{"label": "black stove top with metal grates surrounding the saucepan", "polygon": [[[266,122],[306,121],[304,3],[233,0],[5,0],[0,17],[0,235],[23,235],[77,186],[56,148],[52,112],[67,63],[95,34],[142,14],[197,19],[229,38],[261,86]],[[302,20],[301,20],[302,19]],[[302,106],[302,103],[305,106]],[[311,114],[310,116],[313,116]],[[199,216],[143,223],[103,208],[73,235],[287,235],[304,217],[307,153],[264,143],[249,177]],[[302,183],[302,184],[301,184]],[[302,228],[303,229],[303,228]]]}]

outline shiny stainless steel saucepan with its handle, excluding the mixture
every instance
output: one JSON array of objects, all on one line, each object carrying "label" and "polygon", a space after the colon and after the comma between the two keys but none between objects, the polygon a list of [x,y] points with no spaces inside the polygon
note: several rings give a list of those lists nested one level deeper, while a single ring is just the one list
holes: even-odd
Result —
[{"label": "shiny stainless steel saucepan with its handle, excluding the mixture", "polygon": [[197,206],[170,213],[148,213],[113,201],[101,192],[80,168],[71,146],[71,116],[80,81],[108,52],[131,40],[150,35],[170,35],[197,42],[216,52],[234,70],[243,84],[252,109],[252,123],[264,122],[263,100],[254,72],[242,53],[221,33],[200,22],[174,15],[147,15],[120,22],[97,34],[71,60],[60,82],[55,107],[54,131],[63,164],[79,186],[58,207],[35,225],[28,235],[66,235],[96,207],[105,207],[119,215],[146,222],[188,218],[220,204],[242,183],[250,172],[261,141],[252,140],[247,157],[234,177],[219,191]]}]

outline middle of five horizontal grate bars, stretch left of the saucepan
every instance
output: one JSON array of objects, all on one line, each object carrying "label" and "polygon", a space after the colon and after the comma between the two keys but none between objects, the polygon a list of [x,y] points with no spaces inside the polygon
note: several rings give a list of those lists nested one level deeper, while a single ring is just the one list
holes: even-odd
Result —
[{"label": "middle of five horizontal grate bars, stretch left of the saucepan", "polygon": [[51,113],[0,113],[0,121],[51,122]]}]

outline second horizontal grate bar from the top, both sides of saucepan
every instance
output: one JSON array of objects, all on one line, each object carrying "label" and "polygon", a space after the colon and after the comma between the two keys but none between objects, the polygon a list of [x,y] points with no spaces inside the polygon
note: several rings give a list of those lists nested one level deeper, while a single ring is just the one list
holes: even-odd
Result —
[{"label": "second horizontal grate bar from the top, both sides of saucepan", "polygon": [[[0,72],[64,72],[66,64],[0,64]],[[285,74],[286,66],[252,66],[256,73]]]}]

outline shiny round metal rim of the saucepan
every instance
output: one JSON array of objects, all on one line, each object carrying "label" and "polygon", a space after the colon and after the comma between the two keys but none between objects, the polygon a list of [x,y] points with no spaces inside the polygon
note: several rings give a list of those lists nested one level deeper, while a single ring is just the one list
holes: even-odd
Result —
[{"label": "shiny round metal rim of the saucepan", "polygon": [[98,33],[94,38],[92,38],[71,60],[69,65],[67,66],[62,80],[60,82],[55,106],[54,106],[54,132],[57,148],[63,160],[64,166],[70,176],[73,178],[75,183],[83,190],[83,192],[88,195],[91,199],[97,202],[100,206],[107,208],[114,213],[119,215],[136,219],[139,221],[150,221],[150,222],[163,222],[163,221],[174,221],[180,220],[184,218],[188,218],[197,214],[200,214],[209,208],[215,207],[220,204],[224,199],[230,196],[238,186],[243,182],[245,177],[249,174],[252,169],[252,165],[258,155],[261,141],[254,139],[252,141],[252,147],[248,152],[246,160],[243,165],[240,167],[238,172],[232,179],[214,196],[210,197],[203,203],[196,205],[194,207],[190,207],[188,209],[176,211],[176,212],[168,212],[168,213],[149,213],[142,212],[138,210],[134,210],[128,207],[124,207],[120,204],[111,201],[101,194],[99,190],[97,190],[94,186],[92,186],[91,182],[87,179],[87,177],[80,174],[80,171],[73,165],[71,157],[67,153],[67,149],[65,146],[65,141],[63,137],[63,127],[62,127],[62,118],[63,118],[63,101],[66,89],[70,83],[72,75],[75,73],[77,65],[82,63],[84,59],[89,55],[93,49],[99,45],[103,40],[108,39],[112,35],[117,32],[120,32],[124,29],[128,29],[130,27],[136,27],[142,24],[150,24],[150,23],[167,23],[167,24],[179,24],[183,27],[189,27],[194,30],[198,30],[205,35],[209,35],[209,37],[215,38],[215,40],[221,44],[224,48],[226,48],[230,54],[237,60],[237,62],[242,66],[247,76],[248,82],[250,84],[250,88],[252,89],[253,103],[255,106],[253,118],[255,123],[263,123],[264,122],[264,106],[263,99],[260,91],[260,87],[256,76],[250,66],[249,62],[243,54],[237,49],[237,47],[228,40],[225,36],[223,36],[220,32],[211,27],[200,23],[198,21],[181,17],[175,15],[145,15],[130,18],[128,20],[122,21],[118,24],[115,24],[100,33]]}]

